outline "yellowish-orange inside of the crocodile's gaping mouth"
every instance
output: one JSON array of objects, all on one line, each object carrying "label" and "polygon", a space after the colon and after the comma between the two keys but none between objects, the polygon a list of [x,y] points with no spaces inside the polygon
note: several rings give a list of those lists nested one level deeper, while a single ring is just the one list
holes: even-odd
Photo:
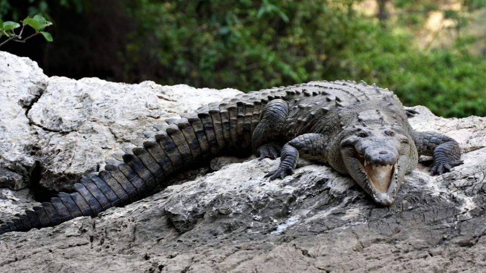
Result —
[{"label": "yellowish-orange inside of the crocodile's gaping mouth", "polygon": [[356,156],[359,162],[359,167],[363,173],[366,174],[371,184],[375,187],[378,193],[386,193],[392,183],[393,174],[395,173],[396,165],[380,165],[372,164],[367,161],[362,155]]}]

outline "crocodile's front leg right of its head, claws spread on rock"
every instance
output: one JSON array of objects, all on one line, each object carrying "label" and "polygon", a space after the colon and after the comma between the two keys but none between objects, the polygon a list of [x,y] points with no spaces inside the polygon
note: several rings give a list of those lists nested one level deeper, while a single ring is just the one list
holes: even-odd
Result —
[{"label": "crocodile's front leg right of its head, claws spread on rock", "polygon": [[463,164],[459,144],[449,136],[434,131],[416,131],[414,138],[419,155],[432,156],[432,174],[449,172]]}]

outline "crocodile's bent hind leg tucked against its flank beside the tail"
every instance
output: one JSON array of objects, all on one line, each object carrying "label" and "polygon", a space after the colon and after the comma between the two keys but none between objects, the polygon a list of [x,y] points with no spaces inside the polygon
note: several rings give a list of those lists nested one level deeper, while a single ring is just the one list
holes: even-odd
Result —
[{"label": "crocodile's bent hind leg tucked against its flank beside the tail", "polygon": [[284,100],[270,101],[263,108],[260,123],[252,134],[253,151],[260,160],[278,157],[281,149],[278,138],[288,115],[289,105]]}]

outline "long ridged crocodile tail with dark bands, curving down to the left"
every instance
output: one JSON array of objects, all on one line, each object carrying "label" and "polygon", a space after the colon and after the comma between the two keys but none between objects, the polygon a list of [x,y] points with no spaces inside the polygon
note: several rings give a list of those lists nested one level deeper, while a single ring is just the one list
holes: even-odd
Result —
[{"label": "long ridged crocodile tail with dark bands, curving down to the left", "polygon": [[[79,216],[96,216],[110,207],[130,204],[152,193],[164,178],[194,162],[228,149],[251,147],[251,134],[266,101],[230,101],[198,109],[198,113],[155,125],[142,145],[116,163],[74,184],[50,202],[26,210],[0,225],[0,234],[55,226]],[[121,162],[123,160],[123,162]],[[167,186],[167,185],[166,185]]]}]

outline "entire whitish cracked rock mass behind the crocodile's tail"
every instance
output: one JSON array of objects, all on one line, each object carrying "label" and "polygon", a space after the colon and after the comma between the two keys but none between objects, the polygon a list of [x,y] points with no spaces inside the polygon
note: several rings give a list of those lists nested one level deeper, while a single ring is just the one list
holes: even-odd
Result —
[{"label": "entire whitish cracked rock mass behind the crocodile's tail", "polygon": [[238,93],[49,78],[30,59],[0,51],[0,187],[22,189],[40,176],[33,183],[69,190],[152,125]]}]

